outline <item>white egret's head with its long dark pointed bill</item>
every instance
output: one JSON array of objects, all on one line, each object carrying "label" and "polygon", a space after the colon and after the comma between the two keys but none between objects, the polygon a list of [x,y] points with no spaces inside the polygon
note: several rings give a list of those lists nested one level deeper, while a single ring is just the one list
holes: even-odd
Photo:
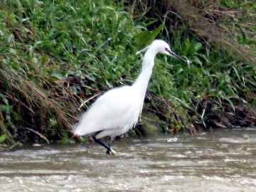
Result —
[{"label": "white egret's head with its long dark pointed bill", "polygon": [[158,53],[167,54],[168,56],[172,56],[176,59],[179,59],[180,61],[187,63],[187,59],[179,56],[178,54],[175,54],[175,52],[170,49],[170,45],[163,40],[154,40],[149,47],[156,49],[156,52]]}]

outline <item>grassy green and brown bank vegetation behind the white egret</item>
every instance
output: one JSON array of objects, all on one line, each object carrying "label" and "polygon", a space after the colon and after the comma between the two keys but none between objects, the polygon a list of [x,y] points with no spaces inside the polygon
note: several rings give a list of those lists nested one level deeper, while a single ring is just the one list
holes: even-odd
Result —
[{"label": "grassy green and brown bank vegetation behind the white egret", "polygon": [[187,16],[149,2],[1,1],[0,144],[65,143],[100,92],[133,82],[157,35],[192,60],[156,59],[145,111],[163,130],[255,124],[255,3],[193,1]]}]

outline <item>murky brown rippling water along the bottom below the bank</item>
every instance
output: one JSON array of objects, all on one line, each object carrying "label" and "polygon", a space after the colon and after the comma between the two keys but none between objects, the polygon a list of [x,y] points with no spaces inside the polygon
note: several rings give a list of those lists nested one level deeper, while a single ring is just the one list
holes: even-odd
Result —
[{"label": "murky brown rippling water along the bottom below the bank", "polygon": [[256,130],[0,152],[1,191],[256,191]]}]

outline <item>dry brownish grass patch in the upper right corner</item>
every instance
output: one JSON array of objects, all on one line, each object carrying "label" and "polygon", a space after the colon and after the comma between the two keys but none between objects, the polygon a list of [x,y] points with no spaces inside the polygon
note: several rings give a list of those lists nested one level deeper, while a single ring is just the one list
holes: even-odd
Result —
[{"label": "dry brownish grass patch in the upper right corner", "polygon": [[130,4],[134,17],[146,20],[150,23],[149,28],[155,28],[159,22],[165,23],[164,35],[168,39],[172,37],[172,32],[183,28],[206,45],[221,47],[233,58],[236,55],[235,59],[253,64],[256,62],[255,1],[132,2]]}]

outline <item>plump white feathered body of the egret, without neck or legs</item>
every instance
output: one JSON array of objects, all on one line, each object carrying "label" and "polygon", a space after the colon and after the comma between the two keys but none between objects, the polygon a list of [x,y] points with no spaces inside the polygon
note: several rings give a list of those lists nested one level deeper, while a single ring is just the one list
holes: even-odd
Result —
[{"label": "plump white feathered body of the egret, without neck or legs", "polygon": [[81,116],[75,134],[85,136],[100,131],[96,138],[115,138],[126,133],[138,121],[138,109],[142,107],[139,100],[139,92],[132,86],[122,86],[105,92]]}]

